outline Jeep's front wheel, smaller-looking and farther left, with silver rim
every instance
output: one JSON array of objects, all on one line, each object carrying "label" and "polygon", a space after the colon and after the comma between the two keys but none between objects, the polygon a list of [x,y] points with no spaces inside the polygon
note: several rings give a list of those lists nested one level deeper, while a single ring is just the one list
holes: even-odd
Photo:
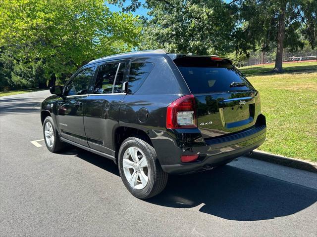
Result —
[{"label": "Jeep's front wheel, smaller-looking and farther left, with silver rim", "polygon": [[58,132],[54,127],[53,118],[46,117],[43,122],[43,135],[46,147],[50,152],[58,152],[64,148],[64,143],[59,140]]}]

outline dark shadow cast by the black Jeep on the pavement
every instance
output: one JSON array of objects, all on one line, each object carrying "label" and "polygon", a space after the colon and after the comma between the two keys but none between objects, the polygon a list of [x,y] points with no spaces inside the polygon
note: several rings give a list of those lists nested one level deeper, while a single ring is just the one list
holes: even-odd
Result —
[{"label": "dark shadow cast by the black Jeep on the pavement", "polygon": [[[76,155],[119,175],[112,160],[81,149]],[[317,201],[317,190],[225,165],[190,175],[170,175],[165,190],[147,202],[174,208],[193,208],[228,220],[257,221],[299,212]]]}]

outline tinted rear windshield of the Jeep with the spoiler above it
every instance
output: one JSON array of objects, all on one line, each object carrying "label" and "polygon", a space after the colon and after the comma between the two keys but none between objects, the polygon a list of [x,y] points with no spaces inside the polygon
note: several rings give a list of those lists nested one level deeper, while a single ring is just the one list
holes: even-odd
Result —
[{"label": "tinted rear windshield of the Jeep with the spoiler above it", "polygon": [[174,60],[192,93],[254,90],[250,82],[228,61],[210,57],[183,57]]}]

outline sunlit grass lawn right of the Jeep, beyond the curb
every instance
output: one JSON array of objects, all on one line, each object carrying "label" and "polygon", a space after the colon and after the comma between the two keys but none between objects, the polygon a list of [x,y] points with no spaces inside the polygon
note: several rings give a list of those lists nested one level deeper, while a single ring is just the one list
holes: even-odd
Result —
[{"label": "sunlit grass lawn right of the Jeep, beyond the curb", "polygon": [[267,140],[259,148],[290,158],[317,161],[317,63],[283,64],[239,70],[260,91]]}]

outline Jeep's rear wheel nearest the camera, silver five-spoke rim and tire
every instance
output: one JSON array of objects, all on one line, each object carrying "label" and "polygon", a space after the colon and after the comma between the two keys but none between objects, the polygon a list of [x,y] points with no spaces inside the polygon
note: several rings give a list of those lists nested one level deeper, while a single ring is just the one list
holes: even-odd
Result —
[{"label": "Jeep's rear wheel nearest the camera, silver five-spoke rim and tire", "polygon": [[154,148],[139,138],[129,137],[122,143],[118,166],[125,187],[135,197],[156,196],[166,186],[168,174],[160,167]]}]

